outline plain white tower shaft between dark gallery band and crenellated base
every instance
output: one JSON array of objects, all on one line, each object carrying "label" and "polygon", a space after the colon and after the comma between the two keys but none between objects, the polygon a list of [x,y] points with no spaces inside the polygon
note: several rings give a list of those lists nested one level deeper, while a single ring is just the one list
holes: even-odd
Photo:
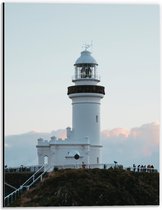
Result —
[{"label": "plain white tower shaft between dark gallery band and crenellated base", "polygon": [[74,141],[81,143],[85,137],[92,145],[100,145],[100,100],[102,94],[71,94],[72,130]]}]

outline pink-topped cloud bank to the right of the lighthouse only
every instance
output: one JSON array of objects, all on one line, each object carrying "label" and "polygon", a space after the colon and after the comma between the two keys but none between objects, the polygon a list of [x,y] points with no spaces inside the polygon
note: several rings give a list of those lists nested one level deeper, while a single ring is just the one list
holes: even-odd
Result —
[{"label": "pink-topped cloud bank to the right of the lighthouse only", "polygon": [[102,132],[103,161],[121,164],[154,164],[159,168],[160,126],[144,124],[129,131],[123,128]]}]

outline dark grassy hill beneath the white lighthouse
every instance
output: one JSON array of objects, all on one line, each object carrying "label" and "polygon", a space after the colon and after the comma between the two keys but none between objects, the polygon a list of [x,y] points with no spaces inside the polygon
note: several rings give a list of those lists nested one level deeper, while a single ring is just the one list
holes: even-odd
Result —
[{"label": "dark grassy hill beneath the white lighthouse", "polygon": [[50,173],[12,206],[159,205],[159,173],[66,169]]}]

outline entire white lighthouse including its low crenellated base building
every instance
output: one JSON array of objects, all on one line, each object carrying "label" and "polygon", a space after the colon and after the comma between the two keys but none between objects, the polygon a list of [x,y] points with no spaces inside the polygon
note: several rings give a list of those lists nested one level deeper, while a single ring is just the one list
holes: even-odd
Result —
[{"label": "entire white lighthouse including its low crenellated base building", "polygon": [[38,139],[38,164],[48,162],[49,166],[71,164],[100,164],[100,100],[104,87],[97,85],[100,77],[97,62],[87,49],[76,60],[73,82],[68,87],[72,100],[72,129],[68,127],[67,138],[50,141]]}]

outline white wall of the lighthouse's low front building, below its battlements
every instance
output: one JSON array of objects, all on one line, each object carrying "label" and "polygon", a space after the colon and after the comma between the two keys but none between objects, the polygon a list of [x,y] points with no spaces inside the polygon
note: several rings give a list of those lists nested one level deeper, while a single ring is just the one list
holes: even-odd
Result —
[{"label": "white wall of the lighthouse's low front building, below its battlements", "polygon": [[[88,144],[48,144],[37,145],[38,163],[43,165],[46,159],[50,166],[56,165],[76,165],[82,164],[100,164],[101,160],[101,146],[94,146]],[[75,154],[79,154],[80,158],[76,160]]]}]

